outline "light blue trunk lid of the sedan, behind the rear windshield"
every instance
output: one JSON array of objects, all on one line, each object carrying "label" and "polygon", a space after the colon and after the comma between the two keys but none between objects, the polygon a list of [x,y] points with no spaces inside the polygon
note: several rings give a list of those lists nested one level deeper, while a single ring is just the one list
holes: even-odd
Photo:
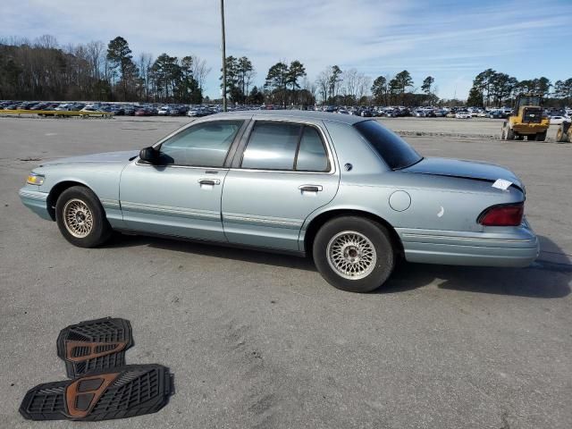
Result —
[{"label": "light blue trunk lid of the sedan, behind the rear windshield", "polygon": [[478,181],[497,181],[503,179],[511,181],[524,191],[522,182],[514,172],[501,167],[501,165],[482,163],[480,161],[466,161],[448,158],[424,158],[417,164],[401,170],[402,172],[416,172],[432,174],[435,176],[460,177],[462,179],[475,179]]}]

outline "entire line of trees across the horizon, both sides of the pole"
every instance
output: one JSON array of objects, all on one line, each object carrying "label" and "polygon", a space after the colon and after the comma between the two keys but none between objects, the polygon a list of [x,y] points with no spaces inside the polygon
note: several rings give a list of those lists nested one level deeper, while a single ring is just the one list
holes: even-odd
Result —
[{"label": "entire line of trees across the horizon, both sides of the pole", "polygon": [[[0,39],[0,99],[100,100],[196,104],[206,101],[210,72],[197,55],[181,58],[166,53],[134,57],[122,37],[87,44],[59,46],[49,35],[30,42]],[[221,69],[222,71],[222,69]],[[437,97],[432,76],[415,86],[407,70],[374,79],[354,68],[329,65],[309,80],[299,60],[274,63],[264,84],[247,56],[226,58],[226,93],[240,105],[460,105]],[[222,76],[220,78],[222,80]],[[221,83],[221,88],[223,84]],[[572,105],[572,78],[551,83],[546,77],[520,80],[487,69],[477,74],[467,105],[509,105],[519,93],[546,97],[546,105]]]}]

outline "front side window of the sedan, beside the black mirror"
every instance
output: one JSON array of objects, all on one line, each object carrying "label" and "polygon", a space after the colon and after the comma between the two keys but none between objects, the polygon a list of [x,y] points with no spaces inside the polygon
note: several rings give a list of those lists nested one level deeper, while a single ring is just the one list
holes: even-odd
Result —
[{"label": "front side window of the sedan, beside the black mirror", "polygon": [[243,121],[202,122],[161,145],[164,164],[222,167]]}]

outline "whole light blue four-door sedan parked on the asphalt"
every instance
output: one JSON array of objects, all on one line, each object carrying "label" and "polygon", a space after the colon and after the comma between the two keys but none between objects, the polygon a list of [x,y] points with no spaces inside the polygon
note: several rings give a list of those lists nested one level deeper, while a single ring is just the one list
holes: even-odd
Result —
[{"label": "whole light blue four-door sedan parked on the asphalt", "polygon": [[126,231],[311,255],[356,292],[397,257],[526,266],[539,252],[513,172],[424,158],[355,115],[215,114],[140,152],[41,164],[20,196],[79,247]]}]

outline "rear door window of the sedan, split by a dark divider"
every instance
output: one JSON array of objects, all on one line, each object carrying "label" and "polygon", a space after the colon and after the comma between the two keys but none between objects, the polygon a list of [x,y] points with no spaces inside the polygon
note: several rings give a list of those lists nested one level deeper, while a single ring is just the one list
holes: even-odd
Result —
[{"label": "rear door window of the sedan, split by a dark divider", "polygon": [[326,172],[330,164],[318,130],[300,123],[255,124],[242,156],[242,168]]}]

